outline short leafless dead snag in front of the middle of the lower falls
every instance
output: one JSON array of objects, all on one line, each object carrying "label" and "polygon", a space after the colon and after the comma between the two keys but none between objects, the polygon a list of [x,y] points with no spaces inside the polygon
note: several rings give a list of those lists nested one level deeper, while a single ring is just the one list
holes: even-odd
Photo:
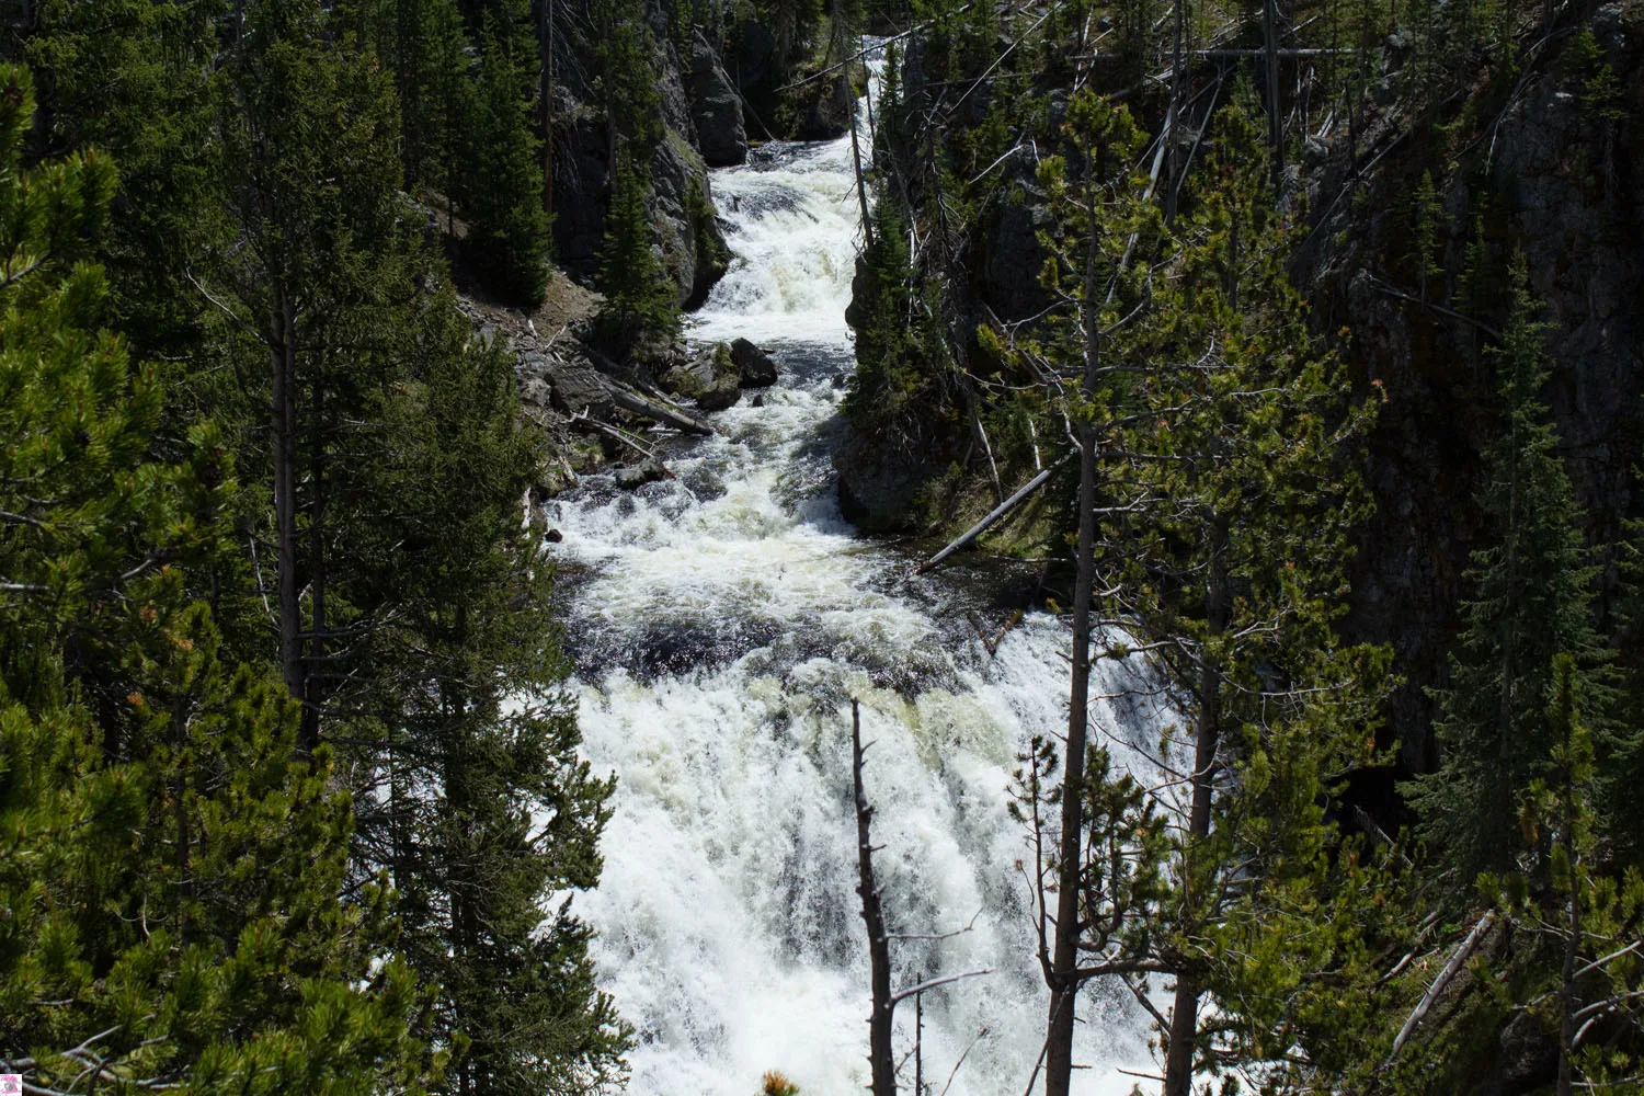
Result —
[{"label": "short leafless dead snag in front of the middle of the lower falls", "polygon": [[[873,1014],[868,1017],[868,1065],[871,1066],[873,1096],[896,1096],[896,1055],[893,1047],[896,1006],[909,997],[916,1001],[921,994],[962,981],[991,974],[991,969],[965,971],[963,974],[944,974],[927,978],[906,989],[891,989],[891,942],[893,940],[942,940],[970,932],[970,925],[957,932],[940,935],[893,933],[884,927],[884,894],[873,871],[873,854],[884,848],[873,843],[873,805],[868,804],[868,792],[861,781],[863,754],[866,746],[861,741],[861,708],[857,700],[850,702],[850,774],[857,802],[857,894],[861,896],[861,920],[868,928],[868,968],[873,988]],[[975,923],[975,919],[972,919]],[[916,1035],[917,1037],[917,1035]],[[967,1052],[968,1053],[968,1052]],[[960,1058],[963,1063],[963,1058]],[[958,1066],[954,1066],[955,1070]],[[916,1093],[916,1096],[919,1096]]]}]

